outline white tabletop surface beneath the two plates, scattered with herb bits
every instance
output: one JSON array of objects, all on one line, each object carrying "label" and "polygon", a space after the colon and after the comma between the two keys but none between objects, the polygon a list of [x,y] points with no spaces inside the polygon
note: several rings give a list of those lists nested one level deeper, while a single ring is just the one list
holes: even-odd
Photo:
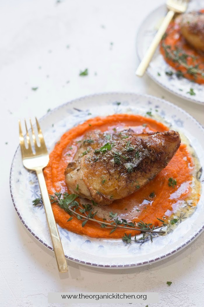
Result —
[{"label": "white tabletop surface beneath the two plates, scattered with herb bits", "polygon": [[[48,292],[68,291],[159,292],[160,303],[149,307],[204,306],[204,233],[182,251],[152,265],[102,270],[68,262],[69,273],[59,275],[54,253],[25,229],[9,191],[9,170],[18,145],[17,120],[40,118],[71,99],[107,91],[148,93],[165,97],[204,124],[203,106],[179,99],[148,76],[135,76],[137,29],[161,3],[1,0],[1,306],[44,307]],[[84,68],[89,75],[80,77]],[[172,285],[168,287],[167,281]]]}]

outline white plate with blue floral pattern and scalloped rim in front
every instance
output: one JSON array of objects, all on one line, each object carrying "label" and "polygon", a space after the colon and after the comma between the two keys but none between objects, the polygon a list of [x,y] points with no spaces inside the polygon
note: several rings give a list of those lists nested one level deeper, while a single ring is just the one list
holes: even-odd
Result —
[{"label": "white plate with blue floral pattern and scalloped rim in front", "polygon": [[[204,129],[188,113],[165,100],[134,93],[104,93],[72,100],[48,112],[40,119],[46,146],[50,152],[65,131],[92,117],[113,114],[139,114],[151,116],[188,140],[197,154],[199,164],[204,165]],[[197,175],[204,185],[200,168]],[[24,226],[43,245],[53,250],[43,206],[34,207],[32,200],[40,190],[35,172],[23,167],[20,147],[13,158],[10,173],[10,189],[14,207]],[[122,239],[90,238],[58,226],[65,256],[72,261],[97,267],[124,268],[159,261],[191,243],[204,228],[203,187],[196,210],[191,216],[180,216],[177,227],[167,235],[140,244],[127,244]]]}]

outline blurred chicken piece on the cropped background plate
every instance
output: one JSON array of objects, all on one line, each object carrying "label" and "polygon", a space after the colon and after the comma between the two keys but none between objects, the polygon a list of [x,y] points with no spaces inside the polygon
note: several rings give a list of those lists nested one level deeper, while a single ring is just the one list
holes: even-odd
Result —
[{"label": "blurred chicken piece on the cropped background plate", "polygon": [[180,27],[187,42],[195,49],[204,52],[204,14],[200,12],[183,14]]}]

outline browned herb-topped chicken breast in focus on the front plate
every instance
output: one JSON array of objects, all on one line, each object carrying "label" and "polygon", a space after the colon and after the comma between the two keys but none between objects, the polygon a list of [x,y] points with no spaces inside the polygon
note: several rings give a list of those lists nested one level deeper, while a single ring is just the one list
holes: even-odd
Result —
[{"label": "browned herb-topped chicken breast in focus on the front plate", "polygon": [[180,146],[178,132],[135,134],[131,129],[85,135],[65,170],[71,192],[100,204],[111,204],[152,180]]}]

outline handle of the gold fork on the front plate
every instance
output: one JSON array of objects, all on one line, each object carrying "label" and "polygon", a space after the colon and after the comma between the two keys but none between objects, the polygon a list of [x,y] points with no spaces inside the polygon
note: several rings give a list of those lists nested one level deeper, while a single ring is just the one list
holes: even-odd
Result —
[{"label": "handle of the gold fork on the front plate", "polygon": [[37,174],[38,181],[39,181],[39,186],[40,186],[41,195],[42,195],[43,204],[44,204],[45,213],[46,213],[46,218],[47,218],[47,223],[48,223],[48,227],[50,230],[50,235],[52,239],[55,257],[57,260],[57,266],[58,266],[59,272],[67,272],[68,267],[67,267],[67,262],[65,259],[65,253],[63,251],[59,232],[58,232],[57,225],[54,219],[54,214],[52,211],[52,206],[50,204],[50,197],[47,192],[43,170],[42,169],[36,170],[36,174]]}]

